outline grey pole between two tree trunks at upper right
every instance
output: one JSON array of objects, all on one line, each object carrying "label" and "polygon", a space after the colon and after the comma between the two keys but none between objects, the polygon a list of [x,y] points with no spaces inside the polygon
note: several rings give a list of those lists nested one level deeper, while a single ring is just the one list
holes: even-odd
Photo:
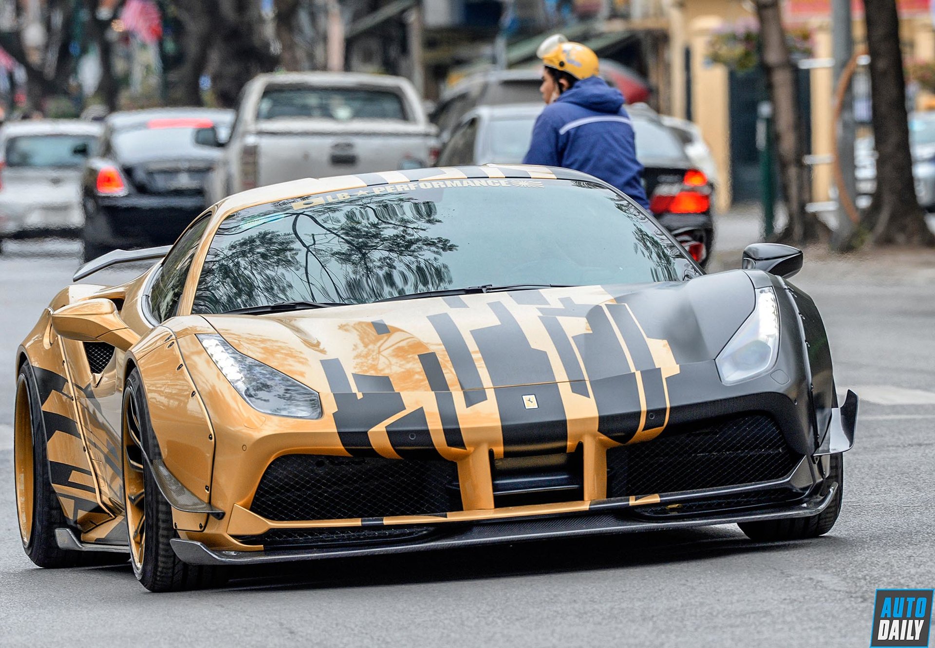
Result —
[{"label": "grey pole between two tree trunks at upper right", "polygon": [[[854,54],[854,37],[852,34],[851,0],[832,0],[831,2],[831,52],[834,56],[834,85],[838,86],[844,68]],[[856,179],[854,170],[854,95],[851,89],[844,94],[844,103],[841,107],[841,118],[834,124],[838,129],[838,165],[841,167],[841,176],[844,178],[844,191],[855,199]],[[838,195],[838,227],[831,237],[831,247],[841,249],[846,247],[854,236],[854,223],[850,216],[841,207],[842,196]]]}]

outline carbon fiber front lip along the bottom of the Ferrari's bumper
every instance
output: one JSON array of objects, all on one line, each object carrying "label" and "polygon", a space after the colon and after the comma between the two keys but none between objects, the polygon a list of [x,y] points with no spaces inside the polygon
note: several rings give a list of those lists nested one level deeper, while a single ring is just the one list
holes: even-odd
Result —
[{"label": "carbon fiber front lip along the bottom of the Ferrari's bumper", "polygon": [[658,529],[686,528],[755,522],[779,518],[812,517],[827,509],[835,494],[838,483],[834,482],[824,496],[812,497],[801,504],[784,508],[769,508],[758,511],[722,515],[704,515],[697,518],[650,521],[623,519],[609,512],[590,515],[543,517],[533,520],[504,520],[475,523],[465,526],[461,533],[446,538],[413,541],[392,546],[348,547],[326,549],[302,549],[296,551],[228,552],[214,551],[195,540],[171,540],[172,549],[182,562],[189,565],[262,565],[265,563],[338,558],[354,555],[404,554],[418,551],[451,549],[456,547],[480,546],[501,542],[546,540],[552,538],[577,538],[613,533],[633,533]]}]

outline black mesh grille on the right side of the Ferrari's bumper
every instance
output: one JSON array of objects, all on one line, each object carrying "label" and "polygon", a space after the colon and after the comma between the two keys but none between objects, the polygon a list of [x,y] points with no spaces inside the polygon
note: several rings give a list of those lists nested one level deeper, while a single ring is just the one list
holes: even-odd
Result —
[{"label": "black mesh grille on the right side of the Ferrari's bumper", "polygon": [[799,458],[770,416],[749,414],[697,432],[611,448],[608,497],[781,479]]}]

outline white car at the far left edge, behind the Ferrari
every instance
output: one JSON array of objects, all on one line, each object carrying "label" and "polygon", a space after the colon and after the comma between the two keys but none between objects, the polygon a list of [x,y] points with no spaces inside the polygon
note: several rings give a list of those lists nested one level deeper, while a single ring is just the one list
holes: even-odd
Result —
[{"label": "white car at the far left edge, behind the Ferrari", "polygon": [[84,223],[81,166],[101,131],[100,124],[77,120],[4,125],[0,130],[0,250],[6,238],[78,235]]}]

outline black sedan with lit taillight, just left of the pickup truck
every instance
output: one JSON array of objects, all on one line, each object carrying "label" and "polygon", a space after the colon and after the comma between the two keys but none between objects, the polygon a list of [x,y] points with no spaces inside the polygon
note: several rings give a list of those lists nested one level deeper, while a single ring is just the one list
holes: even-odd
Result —
[{"label": "black sedan with lit taillight, just left of the pickup truck", "polygon": [[205,181],[221,151],[199,129],[229,132],[233,110],[159,108],[115,112],[82,180],[84,259],[122,247],[166,245],[208,207]]}]

